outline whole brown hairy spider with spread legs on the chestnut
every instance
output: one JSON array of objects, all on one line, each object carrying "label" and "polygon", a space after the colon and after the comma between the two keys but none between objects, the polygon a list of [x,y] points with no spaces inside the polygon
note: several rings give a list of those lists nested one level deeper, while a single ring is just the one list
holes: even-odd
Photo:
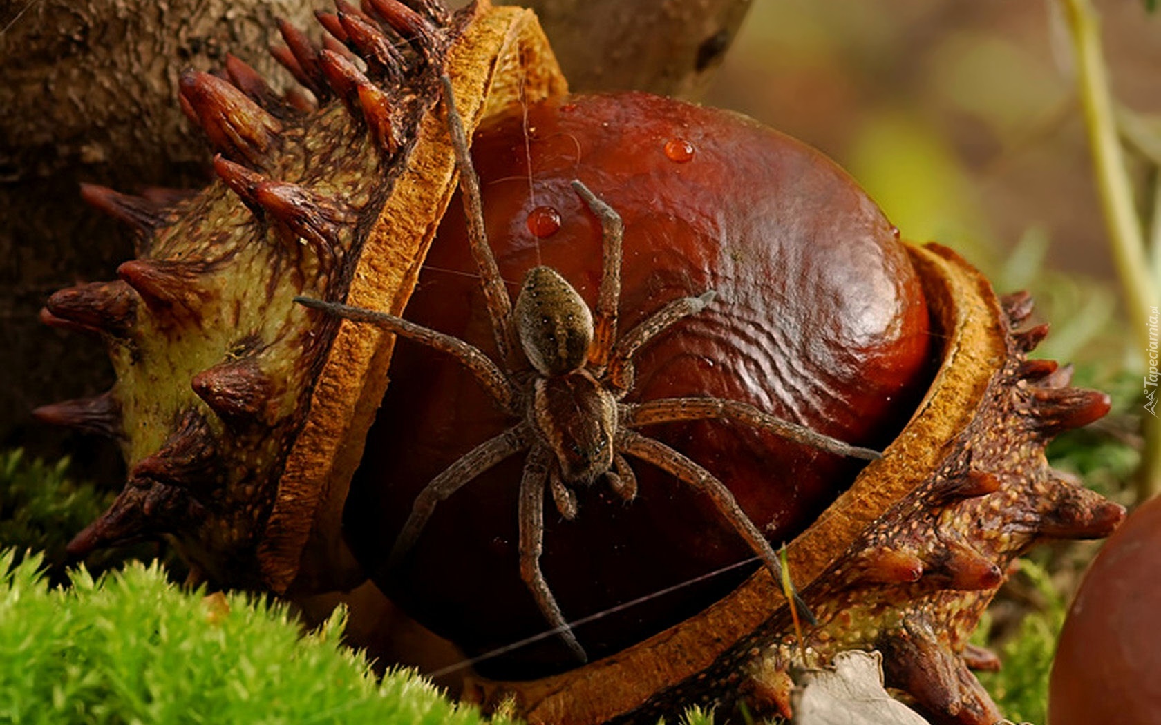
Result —
[{"label": "whole brown hairy spider with spread legs on the chestnut", "polygon": [[[776,581],[781,581],[778,556],[729,490],[706,469],[669,445],[637,433],[637,428],[672,421],[722,419],[841,456],[874,459],[880,457],[879,454],[780,420],[736,400],[686,397],[621,403],[633,389],[633,357],[636,351],[678,320],[705,310],[713,303],[714,291],[662,305],[628,333],[618,336],[621,217],[584,183],[572,181],[572,188],[600,222],[603,232],[603,269],[596,307],[590,311],[572,285],[556,270],[545,266],[534,267],[525,274],[513,305],[484,232],[479,180],[446,75],[442,84],[468,218],[469,245],[479,270],[499,362],[463,340],[399,317],[338,303],[295,298],[308,307],[378,325],[454,356],[475,376],[496,405],[518,421],[464,454],[419,492],[395,541],[388,566],[397,565],[411,550],[440,501],[502,461],[527,451],[518,503],[520,578],[553,625],[553,631],[580,661],[586,661],[587,655],[540,568],[546,488],[565,520],[572,520],[578,513],[574,490],[591,486],[598,480],[605,481],[626,502],[632,501],[636,496],[637,484],[627,456],[655,465],[707,494],[774,574]],[[791,596],[793,606],[809,617],[809,609],[798,594],[792,590]]]}]

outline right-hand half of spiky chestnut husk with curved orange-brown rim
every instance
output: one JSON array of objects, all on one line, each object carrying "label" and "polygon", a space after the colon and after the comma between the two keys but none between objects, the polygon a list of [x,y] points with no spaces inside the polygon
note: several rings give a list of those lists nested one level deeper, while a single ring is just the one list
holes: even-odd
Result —
[{"label": "right-hand half of spiky chestnut husk with curved orange-brown rim", "polygon": [[655,723],[692,703],[738,698],[751,712],[786,715],[792,664],[875,648],[887,686],[933,723],[1001,719],[971,673],[998,661],[968,635],[1023,551],[1108,536],[1124,517],[1044,456],[1057,434],[1104,415],[1109,399],[1070,387],[1068,368],[1027,358],[1047,332],[1024,326],[1027,295],[997,298],[938,245],[910,252],[942,346],[939,371],[882,461],[788,546],[789,571],[820,622],[805,641],[762,570],[625,652],[533,682],[476,680],[469,699],[514,698],[533,723]]}]

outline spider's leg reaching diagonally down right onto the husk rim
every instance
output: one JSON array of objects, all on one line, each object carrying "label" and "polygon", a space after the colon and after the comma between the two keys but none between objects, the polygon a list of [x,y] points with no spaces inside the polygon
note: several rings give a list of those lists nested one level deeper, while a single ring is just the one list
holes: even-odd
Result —
[{"label": "spider's leg reaching diagonally down right onto the husk rim", "polygon": [[[693,486],[709,495],[709,499],[717,507],[717,510],[726,516],[734,530],[745,539],[753,553],[766,565],[770,573],[774,575],[776,582],[783,580],[783,566],[778,560],[778,554],[770,546],[770,542],[762,535],[758,527],[753,525],[750,517],[745,515],[742,507],[734,500],[734,494],[729,492],[717,478],[705,470],[692,459],[665,445],[661,441],[648,438],[633,430],[622,429],[620,433],[620,449],[626,454],[640,458],[646,463],[651,463],[658,469],[677,477],[682,481]],[[793,587],[793,585],[792,585]],[[817,622],[810,612],[809,607],[802,601],[796,590],[792,590],[793,607],[803,615],[812,624]]]}]

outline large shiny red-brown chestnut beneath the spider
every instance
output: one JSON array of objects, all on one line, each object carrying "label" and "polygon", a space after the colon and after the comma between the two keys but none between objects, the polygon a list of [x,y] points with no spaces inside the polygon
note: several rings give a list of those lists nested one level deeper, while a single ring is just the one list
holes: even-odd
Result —
[{"label": "large shiny red-brown chestnut beneath the spider", "polygon": [[[930,377],[926,305],[897,231],[830,160],[744,117],[643,94],[558,100],[528,108],[526,121],[520,110],[481,130],[473,147],[510,292],[545,263],[594,303],[600,226],[572,179],[625,220],[622,333],[675,298],[717,292],[707,311],[642,349],[627,401],[743,400],[880,448],[903,427]],[[692,144],[691,159],[666,155],[675,138]],[[527,218],[542,205],[562,222],[538,239]],[[475,277],[454,198],[405,317],[495,355]],[[471,655],[546,630],[519,577],[524,455],[441,502],[408,561],[383,567],[423,486],[514,422],[446,355],[401,340],[390,376],[347,500],[356,556],[389,596]],[[717,421],[644,433],[717,476],[776,545],[810,525],[860,466]],[[633,466],[640,494],[629,505],[600,481],[578,492],[575,521],[546,502],[541,565],[570,621],[752,556],[708,500],[649,465]],[[590,659],[616,652],[695,614],[752,570],[601,617],[577,628],[577,638]],[[576,665],[548,638],[477,669],[521,679]]]}]

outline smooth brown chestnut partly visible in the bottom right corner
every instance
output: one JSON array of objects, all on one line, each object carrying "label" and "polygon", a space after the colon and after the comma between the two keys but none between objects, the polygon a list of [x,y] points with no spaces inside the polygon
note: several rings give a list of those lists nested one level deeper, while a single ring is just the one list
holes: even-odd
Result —
[{"label": "smooth brown chestnut partly visible in the bottom right corner", "polygon": [[1161,499],[1125,520],[1089,565],[1060,633],[1053,725],[1153,725],[1161,717]]}]

